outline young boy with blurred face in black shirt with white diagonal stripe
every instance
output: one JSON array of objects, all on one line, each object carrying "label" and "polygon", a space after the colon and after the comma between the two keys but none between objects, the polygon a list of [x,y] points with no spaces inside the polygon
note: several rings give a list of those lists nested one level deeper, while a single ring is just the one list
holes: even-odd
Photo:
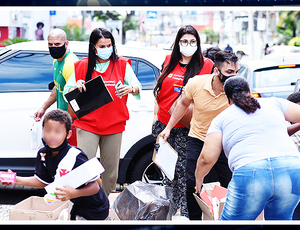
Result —
[{"label": "young boy with blurred face in black shirt with white diagonal stripe", "polygon": [[[35,175],[17,176],[15,184],[44,188],[55,179],[86,162],[88,160],[86,154],[68,144],[67,139],[71,134],[71,117],[67,112],[56,109],[47,113],[43,120],[45,147],[38,151]],[[109,201],[97,182],[98,178],[94,178],[77,189],[70,186],[56,188],[58,199],[71,200],[74,203],[71,220],[104,220],[108,216]]]}]

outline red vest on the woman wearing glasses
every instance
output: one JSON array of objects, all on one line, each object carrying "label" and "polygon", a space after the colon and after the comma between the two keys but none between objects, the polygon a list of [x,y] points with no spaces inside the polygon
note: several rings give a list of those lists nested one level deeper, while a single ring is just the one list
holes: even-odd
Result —
[{"label": "red vest on the woman wearing glasses", "polygon": [[[166,66],[170,62],[170,55],[166,56],[165,64]],[[214,63],[209,58],[204,58],[204,64],[198,75],[210,74],[212,72]],[[169,110],[175,100],[180,94],[180,90],[183,86],[184,73],[186,71],[185,67],[181,67],[179,63],[176,65],[174,70],[164,79],[160,92],[157,97],[157,104],[159,110],[157,113],[157,118],[160,122],[167,125],[171,115]],[[178,122],[174,127],[184,127],[180,122]]]}]

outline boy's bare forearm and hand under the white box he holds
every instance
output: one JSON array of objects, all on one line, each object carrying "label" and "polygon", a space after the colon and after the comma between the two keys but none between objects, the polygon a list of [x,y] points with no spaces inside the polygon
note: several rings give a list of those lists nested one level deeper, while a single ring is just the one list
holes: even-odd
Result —
[{"label": "boy's bare forearm and hand under the white box he holds", "polygon": [[55,192],[55,194],[58,195],[57,199],[66,201],[82,196],[92,196],[99,192],[99,189],[99,182],[96,180],[79,189],[75,189],[70,186],[56,188],[57,192]]}]

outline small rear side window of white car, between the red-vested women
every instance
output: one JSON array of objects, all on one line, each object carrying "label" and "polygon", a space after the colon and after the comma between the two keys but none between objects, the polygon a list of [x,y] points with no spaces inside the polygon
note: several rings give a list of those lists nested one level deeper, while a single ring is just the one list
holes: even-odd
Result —
[{"label": "small rear side window of white car, between the red-vested women", "polygon": [[153,68],[143,61],[138,62],[137,78],[142,84],[142,89],[153,89],[156,85]]}]

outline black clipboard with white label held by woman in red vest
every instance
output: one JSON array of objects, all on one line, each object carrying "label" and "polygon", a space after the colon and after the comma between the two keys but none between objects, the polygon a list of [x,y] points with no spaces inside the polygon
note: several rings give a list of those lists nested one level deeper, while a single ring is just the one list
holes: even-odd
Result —
[{"label": "black clipboard with white label held by woman in red vest", "polygon": [[81,118],[113,101],[113,98],[99,75],[85,83],[86,91],[74,89],[65,95],[74,113]]}]

